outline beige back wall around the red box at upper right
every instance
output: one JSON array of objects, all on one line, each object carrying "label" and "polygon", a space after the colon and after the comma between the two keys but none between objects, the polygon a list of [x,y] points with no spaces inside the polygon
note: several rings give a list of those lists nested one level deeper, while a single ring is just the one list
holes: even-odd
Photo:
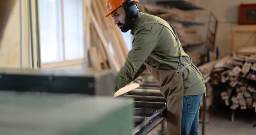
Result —
[{"label": "beige back wall around the red box at upper right", "polygon": [[[196,26],[197,32],[206,38],[207,23],[210,12],[217,17],[219,25],[217,29],[216,45],[219,47],[220,57],[232,53],[232,26],[237,25],[239,16],[239,5],[241,3],[256,3],[256,0],[195,0],[197,6],[205,10],[196,11],[196,20],[205,23],[204,26]],[[255,25],[256,26],[256,25]],[[245,46],[252,33],[237,34],[236,46],[239,48]],[[253,36],[248,45],[256,45],[256,35]]]}]

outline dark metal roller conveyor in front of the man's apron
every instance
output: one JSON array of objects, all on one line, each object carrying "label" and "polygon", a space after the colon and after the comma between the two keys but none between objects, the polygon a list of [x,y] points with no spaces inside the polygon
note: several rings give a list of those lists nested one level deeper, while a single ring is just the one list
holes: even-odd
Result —
[{"label": "dark metal roller conveyor in front of the man's apron", "polygon": [[166,99],[155,81],[141,83],[140,87],[122,96],[134,99],[135,128],[132,135],[147,135],[166,118]]}]

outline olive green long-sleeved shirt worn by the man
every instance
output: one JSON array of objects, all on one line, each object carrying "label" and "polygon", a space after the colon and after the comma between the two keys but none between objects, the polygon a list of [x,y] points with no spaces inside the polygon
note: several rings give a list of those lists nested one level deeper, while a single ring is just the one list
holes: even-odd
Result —
[{"label": "olive green long-sleeved shirt worn by the man", "polygon": [[[177,70],[180,52],[174,35],[160,24],[142,24],[151,21],[162,23],[172,30],[171,26],[158,16],[141,12],[138,14],[131,29],[131,34],[134,35],[132,49],[128,52],[124,66],[115,74],[115,90],[124,87],[145,71],[144,62],[159,70]],[[181,67],[184,67],[190,60],[182,48],[181,53]],[[203,78],[193,66],[184,70],[182,76],[184,96],[198,95],[206,91]]]}]

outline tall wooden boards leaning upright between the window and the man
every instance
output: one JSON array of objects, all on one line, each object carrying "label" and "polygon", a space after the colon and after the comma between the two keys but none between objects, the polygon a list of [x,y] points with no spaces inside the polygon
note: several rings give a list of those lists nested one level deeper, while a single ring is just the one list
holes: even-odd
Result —
[{"label": "tall wooden boards leaning upright between the window and the man", "polygon": [[86,35],[91,36],[86,37],[86,41],[91,41],[86,43],[89,63],[90,67],[98,70],[111,68],[113,72],[117,72],[125,63],[128,49],[111,16],[104,18],[106,7],[102,3],[106,3],[106,0],[84,1],[84,12],[88,18],[85,21]]}]

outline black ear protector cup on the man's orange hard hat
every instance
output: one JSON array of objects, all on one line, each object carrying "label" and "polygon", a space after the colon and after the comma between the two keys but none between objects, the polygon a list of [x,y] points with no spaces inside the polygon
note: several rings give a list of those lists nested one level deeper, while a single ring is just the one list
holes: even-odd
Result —
[{"label": "black ear protector cup on the man's orange hard hat", "polygon": [[128,0],[125,5],[125,11],[129,18],[135,18],[138,16],[139,9],[135,2]]}]

